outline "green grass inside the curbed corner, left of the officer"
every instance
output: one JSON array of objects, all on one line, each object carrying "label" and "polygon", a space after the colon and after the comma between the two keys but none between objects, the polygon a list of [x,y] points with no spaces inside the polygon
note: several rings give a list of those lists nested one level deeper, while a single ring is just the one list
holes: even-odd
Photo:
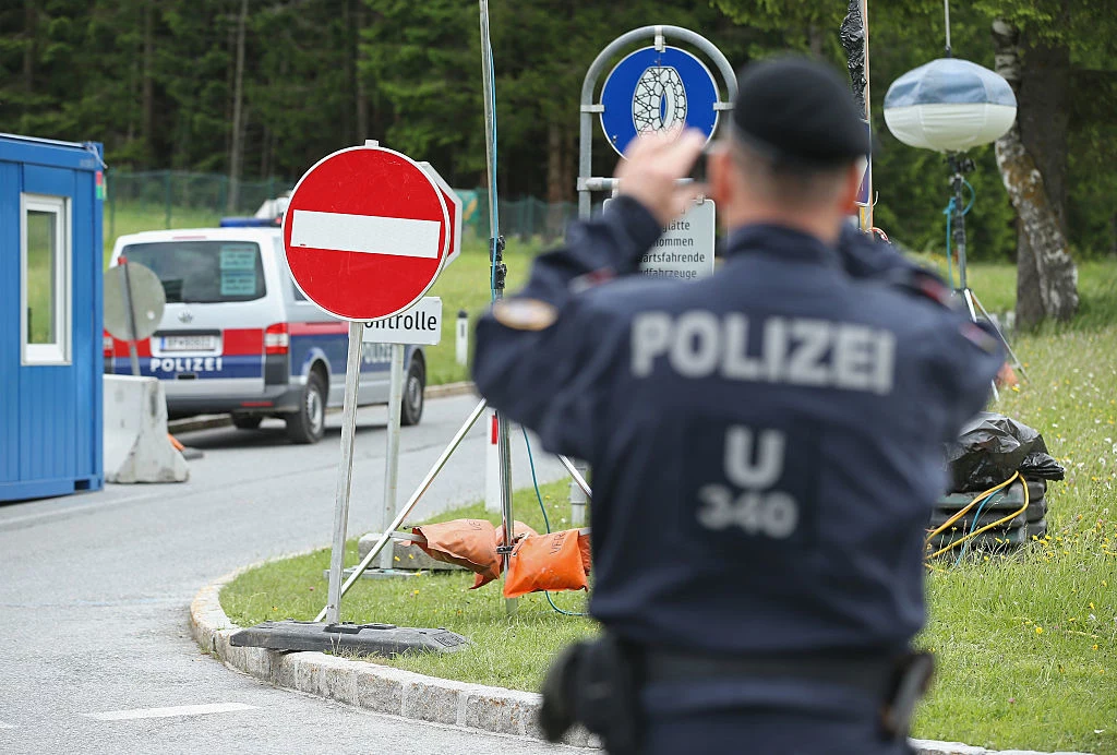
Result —
[{"label": "green grass inside the curbed corner, left of the officer", "polygon": [[[569,528],[569,484],[542,487],[547,514],[555,529]],[[543,532],[543,517],[534,490],[517,491],[516,518]],[[484,505],[447,512],[438,517],[488,518]],[[357,562],[356,541],[351,541],[346,564]],[[326,599],[323,570],[330,566],[330,551],[274,562],[240,575],[221,591],[221,604],[240,624],[268,619],[313,619]],[[472,574],[441,573],[383,581],[361,580],[342,602],[344,621],[383,621],[407,627],[445,627],[468,637],[472,644],[447,656],[403,656],[391,661],[378,659],[420,673],[460,679],[513,689],[537,689],[550,660],[573,640],[594,631],[586,619],[565,617],[547,605],[542,594],[518,601],[516,614],[506,617],[500,583],[468,591]],[[555,604],[567,611],[584,611],[585,594],[553,593]]]}]

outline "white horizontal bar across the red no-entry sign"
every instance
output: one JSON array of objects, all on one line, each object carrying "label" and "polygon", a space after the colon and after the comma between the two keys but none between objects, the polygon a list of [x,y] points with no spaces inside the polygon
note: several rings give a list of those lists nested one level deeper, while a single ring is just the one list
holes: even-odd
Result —
[{"label": "white horizontal bar across the red no-entry sign", "polygon": [[438,259],[442,223],[437,220],[295,210],[290,245],[365,255]]}]

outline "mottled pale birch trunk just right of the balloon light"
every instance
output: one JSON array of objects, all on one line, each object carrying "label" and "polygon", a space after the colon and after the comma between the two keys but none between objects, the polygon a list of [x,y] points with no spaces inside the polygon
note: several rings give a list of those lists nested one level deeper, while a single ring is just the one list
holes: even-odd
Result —
[{"label": "mottled pale birch trunk just right of the balloon light", "polygon": [[[1013,90],[1021,86],[1019,30],[1004,20],[993,22],[996,71]],[[1046,109],[1046,106],[1044,106]],[[1016,322],[1035,325],[1041,319],[1070,319],[1078,309],[1078,269],[1067,250],[1067,237],[1052,203],[1044,174],[1021,137],[1021,103],[1016,122],[996,142],[996,165],[1016,210],[1020,240],[1016,259]],[[1061,189],[1061,187],[1060,187]]]}]

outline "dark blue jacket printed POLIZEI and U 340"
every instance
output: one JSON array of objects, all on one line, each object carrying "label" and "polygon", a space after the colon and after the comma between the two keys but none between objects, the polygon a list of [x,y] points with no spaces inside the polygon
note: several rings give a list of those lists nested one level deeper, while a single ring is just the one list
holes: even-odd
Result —
[{"label": "dark blue jacket printed POLIZEI and U 340", "polygon": [[906,649],[943,442],[1000,345],[884,245],[733,232],[680,283],[620,198],[477,327],[474,379],[593,467],[591,612],[633,641],[735,654]]}]

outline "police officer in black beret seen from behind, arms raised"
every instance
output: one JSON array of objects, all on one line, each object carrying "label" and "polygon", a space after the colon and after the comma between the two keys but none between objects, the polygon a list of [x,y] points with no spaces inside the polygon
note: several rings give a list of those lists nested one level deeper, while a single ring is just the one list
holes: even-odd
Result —
[{"label": "police officer in black beret seen from behind, arms raised", "polygon": [[1003,357],[843,231],[870,145],[842,78],[789,57],[738,89],[707,161],[713,276],[638,275],[704,146],[640,137],[615,201],[477,328],[490,404],[594,472],[604,639],[552,669],[544,725],[614,753],[908,752],[942,445]]}]

